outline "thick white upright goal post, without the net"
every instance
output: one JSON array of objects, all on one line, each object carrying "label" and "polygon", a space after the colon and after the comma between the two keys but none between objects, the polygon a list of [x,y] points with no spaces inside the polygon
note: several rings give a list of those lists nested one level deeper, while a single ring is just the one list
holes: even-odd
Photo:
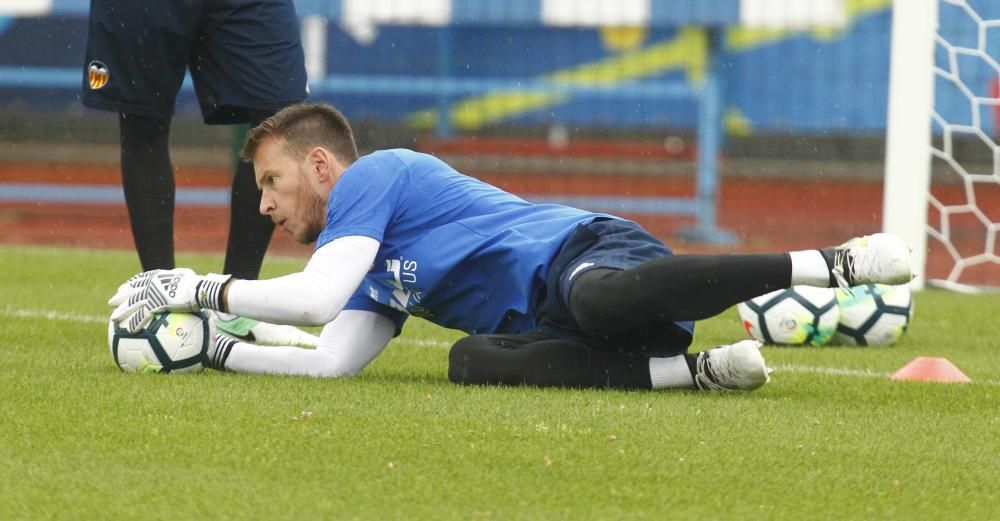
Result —
[{"label": "thick white upright goal post, without the net", "polygon": [[913,248],[913,289],[926,281],[938,1],[895,0],[892,8],[882,229]]}]

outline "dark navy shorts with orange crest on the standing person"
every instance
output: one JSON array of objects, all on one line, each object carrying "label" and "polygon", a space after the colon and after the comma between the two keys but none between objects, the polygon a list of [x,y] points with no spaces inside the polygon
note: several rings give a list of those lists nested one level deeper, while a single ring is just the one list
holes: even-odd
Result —
[{"label": "dark navy shorts with orange crest on the standing person", "polygon": [[292,0],[92,0],[83,104],[170,117],[191,71],[206,123],[306,98]]}]

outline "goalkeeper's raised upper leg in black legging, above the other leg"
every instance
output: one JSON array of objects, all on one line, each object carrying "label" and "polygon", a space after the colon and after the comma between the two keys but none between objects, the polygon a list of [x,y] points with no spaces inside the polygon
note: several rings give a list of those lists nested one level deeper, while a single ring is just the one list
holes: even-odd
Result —
[{"label": "goalkeeper's raised upper leg in black legging, above the other leg", "polygon": [[701,320],[791,284],[787,253],[669,255],[629,270],[595,269],[573,283],[569,308],[590,334]]}]

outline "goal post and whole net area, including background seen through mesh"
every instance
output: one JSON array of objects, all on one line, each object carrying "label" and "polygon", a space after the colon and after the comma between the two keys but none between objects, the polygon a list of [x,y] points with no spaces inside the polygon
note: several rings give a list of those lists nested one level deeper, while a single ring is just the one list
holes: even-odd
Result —
[{"label": "goal post and whole net area, including background seen through mesh", "polygon": [[915,248],[918,287],[1000,289],[1000,2],[893,15],[885,228]]}]

